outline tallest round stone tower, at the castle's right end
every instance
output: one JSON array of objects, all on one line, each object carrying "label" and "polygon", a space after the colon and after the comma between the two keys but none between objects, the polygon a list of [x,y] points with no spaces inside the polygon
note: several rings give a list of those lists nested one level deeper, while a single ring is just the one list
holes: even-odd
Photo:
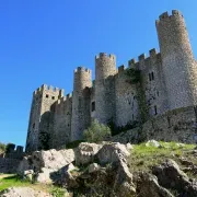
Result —
[{"label": "tallest round stone tower, at the castle's right end", "polygon": [[185,21],[179,11],[160,15],[157,21],[167,108],[196,104],[197,67],[193,56]]}]

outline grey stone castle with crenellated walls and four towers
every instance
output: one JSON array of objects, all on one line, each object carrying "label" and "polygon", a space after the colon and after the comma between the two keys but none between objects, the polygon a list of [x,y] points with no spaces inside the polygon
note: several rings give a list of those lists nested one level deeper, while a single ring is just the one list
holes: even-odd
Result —
[{"label": "grey stone castle with crenellated walls and four towers", "polygon": [[139,56],[116,69],[116,57],[95,57],[95,80],[83,67],[74,70],[72,94],[42,85],[33,93],[26,152],[59,148],[82,138],[93,118],[116,126],[149,118],[197,103],[197,63],[179,11],[155,22],[160,53]]}]

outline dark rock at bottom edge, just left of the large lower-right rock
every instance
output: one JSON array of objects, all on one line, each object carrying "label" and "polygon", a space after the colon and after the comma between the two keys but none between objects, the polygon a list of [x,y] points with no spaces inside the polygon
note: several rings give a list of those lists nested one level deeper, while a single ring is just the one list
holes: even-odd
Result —
[{"label": "dark rock at bottom edge, just left of the large lower-right rock", "polygon": [[148,173],[140,173],[138,179],[139,197],[174,197],[167,189],[159,185],[157,176]]}]

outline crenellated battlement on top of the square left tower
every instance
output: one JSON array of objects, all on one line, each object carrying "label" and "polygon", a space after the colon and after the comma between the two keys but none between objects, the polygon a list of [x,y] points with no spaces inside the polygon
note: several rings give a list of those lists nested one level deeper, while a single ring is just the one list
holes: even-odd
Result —
[{"label": "crenellated battlement on top of the square left tower", "polygon": [[36,91],[33,92],[33,95],[42,94],[44,91],[49,91],[51,93],[59,94],[63,96],[65,90],[59,88],[54,88],[51,85],[43,84]]}]

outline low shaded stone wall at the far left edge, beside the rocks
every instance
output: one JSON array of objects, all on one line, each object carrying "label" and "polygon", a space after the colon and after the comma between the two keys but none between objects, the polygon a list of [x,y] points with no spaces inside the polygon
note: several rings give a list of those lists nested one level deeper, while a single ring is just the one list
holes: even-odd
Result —
[{"label": "low shaded stone wall at the far left edge, beside the rocks", "polygon": [[0,173],[15,173],[21,160],[0,158]]}]

